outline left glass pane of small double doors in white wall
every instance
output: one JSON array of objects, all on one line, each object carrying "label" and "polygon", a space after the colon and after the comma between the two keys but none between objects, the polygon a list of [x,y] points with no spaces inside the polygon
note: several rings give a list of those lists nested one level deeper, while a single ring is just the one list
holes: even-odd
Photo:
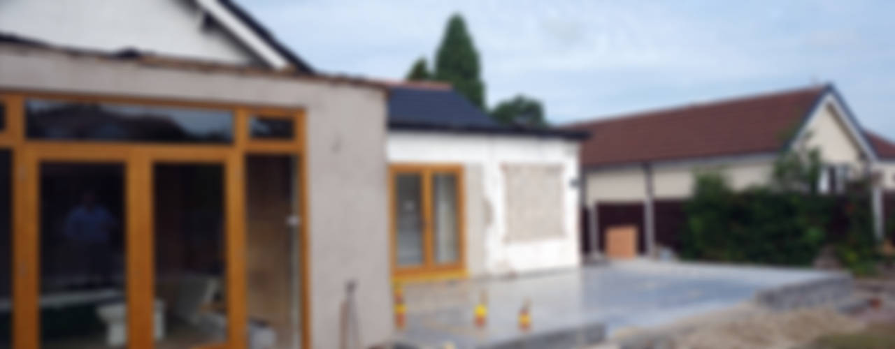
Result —
[{"label": "left glass pane of small double doors in white wall", "polygon": [[399,174],[395,178],[397,212],[397,263],[422,264],[422,178]]}]

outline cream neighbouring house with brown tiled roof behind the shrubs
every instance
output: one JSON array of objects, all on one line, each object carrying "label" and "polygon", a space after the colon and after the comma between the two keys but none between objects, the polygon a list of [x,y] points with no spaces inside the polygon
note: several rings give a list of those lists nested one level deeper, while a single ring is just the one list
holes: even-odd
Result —
[{"label": "cream neighbouring house with brown tiled roof behind the shrubs", "polygon": [[819,188],[844,190],[873,173],[877,234],[882,197],[895,189],[895,146],[866,131],[832,85],[584,121],[581,147],[587,252],[604,251],[609,227],[635,226],[640,253],[675,247],[694,174],[718,170],[735,189],[765,184],[782,151],[816,148],[825,168]]}]

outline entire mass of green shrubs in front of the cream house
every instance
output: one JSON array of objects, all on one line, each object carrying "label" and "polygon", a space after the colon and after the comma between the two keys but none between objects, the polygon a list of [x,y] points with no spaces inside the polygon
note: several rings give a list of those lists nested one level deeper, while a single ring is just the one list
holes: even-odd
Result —
[{"label": "entire mass of green shrubs in front of the cream house", "polygon": [[851,183],[844,214],[848,229],[828,235],[830,218],[842,210],[831,195],[818,194],[820,154],[781,154],[766,187],[734,192],[718,172],[695,174],[686,203],[681,257],[718,262],[808,265],[831,244],[840,262],[858,275],[874,272],[876,251],[870,184]]}]

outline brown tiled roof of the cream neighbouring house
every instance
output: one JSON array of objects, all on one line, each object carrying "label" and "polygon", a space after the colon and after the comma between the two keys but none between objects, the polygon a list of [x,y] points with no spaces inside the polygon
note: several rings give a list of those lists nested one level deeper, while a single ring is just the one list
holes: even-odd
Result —
[{"label": "brown tiled roof of the cream neighbouring house", "polygon": [[642,112],[567,126],[591,132],[584,167],[770,153],[788,142],[828,90],[810,87],[709,104]]}]

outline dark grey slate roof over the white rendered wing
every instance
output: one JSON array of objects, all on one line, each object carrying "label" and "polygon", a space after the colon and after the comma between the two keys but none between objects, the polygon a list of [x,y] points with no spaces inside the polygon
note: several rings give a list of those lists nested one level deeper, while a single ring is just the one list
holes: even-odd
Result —
[{"label": "dark grey slate roof over the white rendered wing", "polygon": [[395,86],[388,93],[388,128],[584,139],[587,132],[509,126],[491,119],[449,88]]}]

